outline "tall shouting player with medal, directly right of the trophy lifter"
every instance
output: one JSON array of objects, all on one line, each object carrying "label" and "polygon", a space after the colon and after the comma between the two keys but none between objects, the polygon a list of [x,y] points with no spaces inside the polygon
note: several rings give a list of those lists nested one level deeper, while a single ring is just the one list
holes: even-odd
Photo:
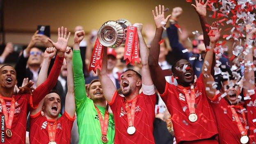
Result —
[{"label": "tall shouting player with medal, directly right of the trophy lifter", "polygon": [[[162,10],[161,10],[162,8]],[[159,41],[162,37],[162,22],[165,21],[164,6],[155,7],[155,37],[149,52],[151,78],[172,116],[172,123],[177,144],[217,144],[217,126],[213,110],[206,96],[203,75],[196,82],[192,65],[180,59],[171,70],[178,86],[165,81],[158,65],[160,53]],[[165,26],[165,25],[164,25]]]}]

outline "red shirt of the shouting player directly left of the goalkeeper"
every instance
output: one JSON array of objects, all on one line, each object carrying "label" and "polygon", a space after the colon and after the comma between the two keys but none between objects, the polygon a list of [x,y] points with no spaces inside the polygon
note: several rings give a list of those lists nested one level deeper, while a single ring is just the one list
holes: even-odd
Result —
[{"label": "red shirt of the shouting player directly left of the goalkeeper", "polygon": [[[71,129],[74,118],[69,117],[69,114],[64,114],[57,120],[55,142],[57,144],[70,144]],[[30,115],[30,144],[48,144],[49,135],[47,125],[52,125],[54,120],[47,120],[41,115],[41,112]]]}]

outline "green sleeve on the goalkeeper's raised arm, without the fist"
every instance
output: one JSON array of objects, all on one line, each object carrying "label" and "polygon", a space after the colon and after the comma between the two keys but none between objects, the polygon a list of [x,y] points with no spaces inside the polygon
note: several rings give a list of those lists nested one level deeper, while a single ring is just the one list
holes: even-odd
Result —
[{"label": "green sleeve on the goalkeeper's raised arm, without the fist", "polygon": [[73,73],[74,73],[74,91],[76,107],[80,107],[87,99],[85,91],[85,78],[82,71],[82,58],[80,50],[73,50]]}]

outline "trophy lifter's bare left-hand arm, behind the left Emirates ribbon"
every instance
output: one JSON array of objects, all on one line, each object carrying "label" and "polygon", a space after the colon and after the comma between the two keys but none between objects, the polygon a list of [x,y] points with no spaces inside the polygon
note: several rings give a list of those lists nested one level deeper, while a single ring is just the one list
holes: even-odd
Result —
[{"label": "trophy lifter's bare left-hand arm, behind the left Emirates ribbon", "polygon": [[101,82],[103,94],[108,103],[112,101],[113,95],[117,90],[112,80],[107,76],[107,48],[103,48],[103,60],[101,71],[97,69],[98,77]]}]

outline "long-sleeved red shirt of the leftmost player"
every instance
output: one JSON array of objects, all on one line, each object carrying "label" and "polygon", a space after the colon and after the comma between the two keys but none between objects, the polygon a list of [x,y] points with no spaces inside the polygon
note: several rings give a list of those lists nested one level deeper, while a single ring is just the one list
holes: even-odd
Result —
[{"label": "long-sleeved red shirt of the leftmost player", "polygon": [[[17,94],[15,97],[15,111],[14,118],[11,125],[12,137],[9,138],[5,134],[5,144],[25,144],[26,139],[26,127],[27,127],[27,113],[33,107],[37,107],[39,102],[49,93],[55,86],[60,69],[62,67],[64,57],[56,57],[53,64],[53,68],[45,82],[43,82],[37,89],[33,91],[33,95],[30,94]],[[7,107],[7,113],[9,116],[9,110],[11,107],[11,98],[3,97]],[[2,105],[0,104],[0,115],[4,115],[2,111]],[[1,123],[2,124],[2,123]],[[6,123],[5,123],[6,130]],[[1,132],[5,133],[5,130]]]}]

